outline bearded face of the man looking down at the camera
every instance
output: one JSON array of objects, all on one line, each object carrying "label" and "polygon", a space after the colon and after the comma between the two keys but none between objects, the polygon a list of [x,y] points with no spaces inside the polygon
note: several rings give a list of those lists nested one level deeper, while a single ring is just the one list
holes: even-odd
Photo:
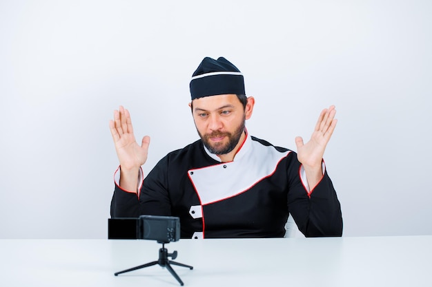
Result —
[{"label": "bearded face of the man looking down at the camera", "polygon": [[195,127],[211,153],[224,155],[237,151],[246,120],[246,111],[237,95],[197,98],[192,107]]}]

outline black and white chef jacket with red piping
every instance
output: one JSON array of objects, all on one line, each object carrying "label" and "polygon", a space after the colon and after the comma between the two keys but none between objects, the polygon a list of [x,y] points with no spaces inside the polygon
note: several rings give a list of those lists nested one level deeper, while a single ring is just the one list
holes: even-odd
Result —
[{"label": "black and white chef jacket with red piping", "polygon": [[288,213],[306,237],[342,235],[324,162],[311,190],[294,151],[253,136],[246,135],[232,162],[221,162],[202,140],[172,151],[146,178],[140,171],[137,192],[121,189],[119,174],[111,216],[177,216],[181,238],[283,237]]}]

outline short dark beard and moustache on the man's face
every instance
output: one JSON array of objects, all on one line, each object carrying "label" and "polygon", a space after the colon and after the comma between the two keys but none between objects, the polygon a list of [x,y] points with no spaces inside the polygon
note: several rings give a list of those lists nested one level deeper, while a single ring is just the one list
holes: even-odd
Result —
[{"label": "short dark beard and moustache on the man's face", "polygon": [[[243,119],[242,123],[235,129],[233,133],[230,133],[228,131],[213,131],[211,134],[205,134],[202,135],[199,131],[199,137],[201,138],[202,142],[204,143],[204,146],[210,151],[210,153],[215,154],[226,154],[233,151],[237,143],[239,143],[240,138],[242,137],[242,134],[244,132],[246,119]],[[214,142],[211,143],[210,138],[217,138],[221,136],[226,136],[228,138],[228,142]]]}]

